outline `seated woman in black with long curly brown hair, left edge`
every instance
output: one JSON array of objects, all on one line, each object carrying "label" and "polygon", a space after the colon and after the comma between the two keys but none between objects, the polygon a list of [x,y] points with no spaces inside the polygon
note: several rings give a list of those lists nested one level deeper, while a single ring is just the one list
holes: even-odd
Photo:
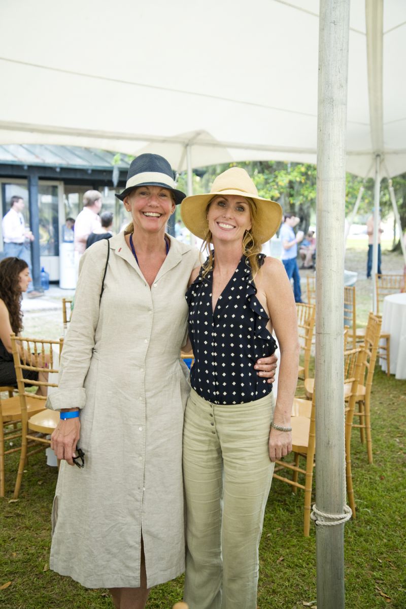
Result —
[{"label": "seated woman in black with long curly brown hair, left edge", "polygon": [[[4,258],[0,262],[0,385],[17,386],[10,334],[22,329],[21,298],[31,281],[28,264],[20,258]],[[46,381],[45,375],[23,370],[24,378]],[[46,395],[46,387],[38,387]]]}]

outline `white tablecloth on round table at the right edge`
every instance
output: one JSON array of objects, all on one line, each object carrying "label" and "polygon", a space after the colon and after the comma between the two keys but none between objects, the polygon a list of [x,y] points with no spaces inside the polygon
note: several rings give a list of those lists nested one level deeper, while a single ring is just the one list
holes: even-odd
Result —
[{"label": "white tablecloth on round table at the right edge", "polygon": [[[406,379],[406,293],[391,294],[384,298],[382,334],[390,334],[390,373],[397,379]],[[387,362],[380,359],[382,370]]]}]

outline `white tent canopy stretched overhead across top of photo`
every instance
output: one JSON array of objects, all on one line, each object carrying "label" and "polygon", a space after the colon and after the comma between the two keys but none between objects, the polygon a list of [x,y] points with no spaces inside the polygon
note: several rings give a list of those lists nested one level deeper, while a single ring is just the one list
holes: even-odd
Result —
[{"label": "white tent canopy stretched overhead across top of photo", "polygon": [[[372,175],[380,152],[393,176],[406,171],[406,3],[385,0],[383,40],[377,27],[367,45],[376,5],[366,17],[351,2],[347,169]],[[15,0],[0,21],[0,144],[148,150],[178,171],[188,144],[193,166],[315,162],[318,0]],[[371,114],[367,52],[384,91]]]}]

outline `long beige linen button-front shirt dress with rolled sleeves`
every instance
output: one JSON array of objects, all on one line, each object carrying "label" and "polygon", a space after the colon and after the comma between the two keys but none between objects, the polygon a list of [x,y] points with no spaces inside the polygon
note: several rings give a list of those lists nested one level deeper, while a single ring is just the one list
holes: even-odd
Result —
[{"label": "long beige linen button-front shirt dress with rolled sleeves", "polygon": [[83,255],[50,409],[78,406],[85,466],[61,463],[50,568],[89,588],[147,585],[184,571],[182,426],[190,386],[179,351],[199,253],[171,247],[148,286],[120,233]]}]

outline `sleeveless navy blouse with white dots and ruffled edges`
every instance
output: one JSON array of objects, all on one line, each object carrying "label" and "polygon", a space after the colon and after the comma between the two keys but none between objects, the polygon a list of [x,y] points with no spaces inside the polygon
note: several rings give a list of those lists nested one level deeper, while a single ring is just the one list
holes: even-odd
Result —
[{"label": "sleeveless navy blouse with white dots and ruffled edges", "polygon": [[[265,256],[258,255],[260,266]],[[272,355],[276,342],[266,325],[269,317],[256,298],[251,267],[245,256],[212,309],[213,272],[202,270],[186,292],[189,337],[195,357],[193,389],[213,404],[259,400],[272,385],[257,375],[259,357]]]}]

